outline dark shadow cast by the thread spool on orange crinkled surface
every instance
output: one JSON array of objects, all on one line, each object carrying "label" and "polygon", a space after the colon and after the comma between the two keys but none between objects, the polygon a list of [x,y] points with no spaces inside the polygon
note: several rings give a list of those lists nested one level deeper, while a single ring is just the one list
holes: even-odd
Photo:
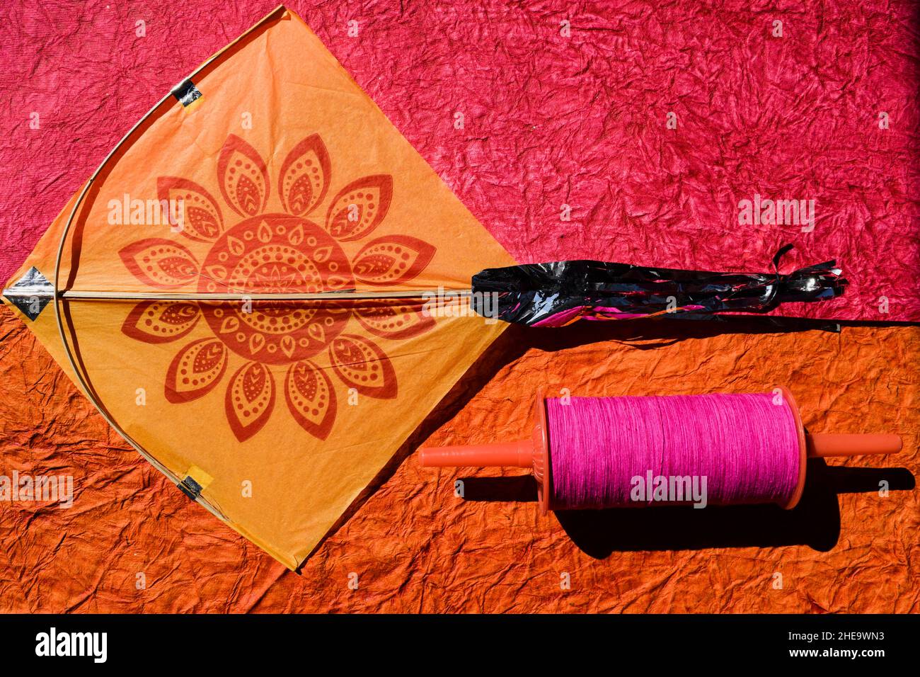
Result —
[{"label": "dark shadow cast by the thread spool on orange crinkled surface", "polygon": [[[808,545],[831,550],[840,536],[840,494],[914,488],[905,468],[845,468],[811,459],[799,505],[784,510],[756,506],[653,506],[604,510],[559,510],[554,513],[582,552],[604,559],[615,552],[699,550],[703,548]],[[535,501],[533,477],[466,477],[468,501]]]}]

